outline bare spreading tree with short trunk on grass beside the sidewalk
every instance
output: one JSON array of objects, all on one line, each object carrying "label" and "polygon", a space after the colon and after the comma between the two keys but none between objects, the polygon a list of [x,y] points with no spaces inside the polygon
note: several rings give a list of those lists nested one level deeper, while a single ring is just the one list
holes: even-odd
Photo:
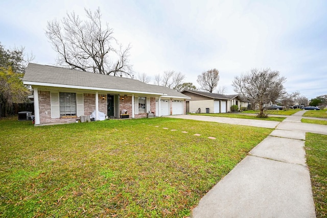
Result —
[{"label": "bare spreading tree with short trunk on grass beside the sidewalk", "polygon": [[271,93],[276,95],[278,93],[276,90],[284,91],[285,81],[285,77],[279,76],[279,71],[273,71],[270,68],[260,70],[253,68],[248,74],[235,77],[232,86],[242,98],[259,106],[258,117],[267,117],[264,104],[271,101]]}]

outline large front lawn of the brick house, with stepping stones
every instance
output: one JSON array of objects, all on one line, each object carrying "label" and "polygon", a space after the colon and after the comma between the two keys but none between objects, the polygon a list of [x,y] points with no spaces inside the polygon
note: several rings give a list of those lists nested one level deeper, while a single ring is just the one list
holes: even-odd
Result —
[{"label": "large front lawn of the brick house, with stepping stones", "polygon": [[0,216],[188,216],[271,131],[175,118],[0,119]]}]

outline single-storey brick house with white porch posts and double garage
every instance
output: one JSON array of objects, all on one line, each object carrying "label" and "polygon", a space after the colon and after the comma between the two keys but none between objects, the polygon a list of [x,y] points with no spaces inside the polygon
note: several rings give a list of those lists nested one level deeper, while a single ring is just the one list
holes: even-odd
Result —
[{"label": "single-storey brick house with white porch posts and double garage", "polygon": [[[23,78],[34,90],[35,124],[70,122],[99,111],[109,117],[185,114],[188,96],[164,86],[93,72],[29,63]],[[97,119],[97,118],[96,118]]]}]

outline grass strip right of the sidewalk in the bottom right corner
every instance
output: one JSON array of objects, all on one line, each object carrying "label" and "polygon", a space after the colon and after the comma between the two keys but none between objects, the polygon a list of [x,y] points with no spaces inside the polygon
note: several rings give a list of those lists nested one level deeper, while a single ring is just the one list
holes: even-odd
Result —
[{"label": "grass strip right of the sidewalk in the bottom right corner", "polygon": [[317,217],[327,217],[327,135],[306,134],[307,164],[310,169]]}]

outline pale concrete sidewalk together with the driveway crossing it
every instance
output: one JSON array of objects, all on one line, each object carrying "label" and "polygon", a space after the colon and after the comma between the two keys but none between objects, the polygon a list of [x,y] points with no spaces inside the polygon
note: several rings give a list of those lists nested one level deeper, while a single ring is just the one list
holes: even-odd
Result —
[{"label": "pale concrete sidewalk together with the driveway crossing it", "polygon": [[[208,191],[194,208],[193,217],[316,217],[305,136],[306,132],[327,134],[327,126],[301,123],[305,112],[270,125],[255,120],[254,126],[275,130]],[[187,115],[181,116],[176,118]],[[248,119],[187,118],[252,126]]]}]

